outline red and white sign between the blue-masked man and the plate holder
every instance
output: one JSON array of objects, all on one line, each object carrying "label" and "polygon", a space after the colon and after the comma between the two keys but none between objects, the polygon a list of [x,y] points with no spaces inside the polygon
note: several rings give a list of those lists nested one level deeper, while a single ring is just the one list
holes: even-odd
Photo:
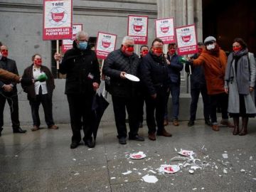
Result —
[{"label": "red and white sign between the blue-masked man and the plate holder", "polygon": [[112,52],[117,43],[117,35],[98,32],[96,43],[97,58],[105,59]]}]

